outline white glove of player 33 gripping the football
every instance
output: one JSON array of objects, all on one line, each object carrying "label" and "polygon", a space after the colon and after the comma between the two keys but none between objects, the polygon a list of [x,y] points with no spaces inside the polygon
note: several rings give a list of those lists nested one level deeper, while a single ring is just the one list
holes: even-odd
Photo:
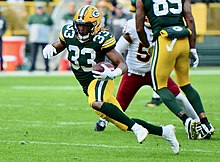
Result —
[{"label": "white glove of player 33 gripping the football", "polygon": [[122,74],[122,70],[120,68],[116,68],[114,71],[111,71],[105,64],[101,64],[101,66],[104,68],[103,72],[99,71],[92,71],[94,74],[93,77],[100,80],[113,80],[116,76],[119,76]]}]

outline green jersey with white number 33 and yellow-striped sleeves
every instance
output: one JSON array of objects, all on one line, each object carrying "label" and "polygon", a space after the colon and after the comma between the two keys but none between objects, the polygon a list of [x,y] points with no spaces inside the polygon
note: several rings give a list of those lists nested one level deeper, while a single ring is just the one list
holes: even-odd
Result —
[{"label": "green jersey with white number 33 and yellow-striped sleeves", "polygon": [[82,42],[76,38],[73,26],[68,24],[62,28],[59,38],[66,45],[72,71],[87,95],[87,88],[94,79],[92,67],[105,61],[105,54],[116,45],[115,37],[108,31],[100,31],[90,40]]}]

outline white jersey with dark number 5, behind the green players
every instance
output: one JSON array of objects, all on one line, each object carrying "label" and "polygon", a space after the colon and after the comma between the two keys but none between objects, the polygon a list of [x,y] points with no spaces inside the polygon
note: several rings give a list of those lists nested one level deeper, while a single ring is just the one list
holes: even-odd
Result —
[{"label": "white jersey with dark number 5, behind the green players", "polygon": [[[145,31],[148,41],[152,42],[152,30],[145,27]],[[128,46],[126,57],[128,72],[144,75],[146,72],[150,71],[150,55],[148,54],[148,48],[144,47],[138,38],[135,19],[130,19],[126,22],[123,33],[128,33],[132,39],[132,43]]]}]

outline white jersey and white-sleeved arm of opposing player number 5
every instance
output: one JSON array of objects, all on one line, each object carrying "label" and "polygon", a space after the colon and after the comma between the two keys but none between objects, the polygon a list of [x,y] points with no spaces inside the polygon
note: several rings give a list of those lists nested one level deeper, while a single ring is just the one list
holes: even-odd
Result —
[{"label": "white jersey and white-sleeved arm of opposing player number 5", "polygon": [[[151,29],[145,29],[147,31],[149,41],[152,41]],[[125,49],[128,49],[126,58],[128,72],[145,76],[146,72],[150,71],[150,64],[146,64],[146,62],[149,62],[150,60],[150,55],[148,53],[148,48],[143,47],[138,39],[135,29],[135,19],[130,19],[126,22],[123,33],[124,35],[120,37],[120,40],[116,44],[116,50],[120,53],[124,53]]]}]

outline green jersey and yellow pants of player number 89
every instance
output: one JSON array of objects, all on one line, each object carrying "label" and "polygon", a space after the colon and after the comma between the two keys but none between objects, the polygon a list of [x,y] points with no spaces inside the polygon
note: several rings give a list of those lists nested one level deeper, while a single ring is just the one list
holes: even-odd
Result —
[{"label": "green jersey and yellow pants of player number 89", "polygon": [[188,36],[191,31],[184,26],[182,1],[142,2],[156,42],[151,63],[154,89],[167,87],[167,80],[173,69],[179,86],[189,84]]}]

